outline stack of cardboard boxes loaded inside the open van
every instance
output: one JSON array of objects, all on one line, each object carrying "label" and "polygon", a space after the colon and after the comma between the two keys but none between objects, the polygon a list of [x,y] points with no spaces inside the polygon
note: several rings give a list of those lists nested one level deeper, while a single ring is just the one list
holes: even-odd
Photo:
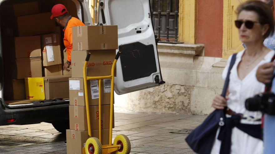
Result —
[{"label": "stack of cardboard boxes loaded inside the open van", "polygon": [[[68,98],[69,76],[62,72],[60,29],[50,19],[51,12],[41,13],[37,1],[8,5],[5,9],[9,12],[1,10],[5,100]],[[53,81],[67,87],[60,96],[50,94],[56,92],[50,91],[56,84]],[[48,89],[43,89],[44,82]],[[42,88],[42,94],[33,95],[35,88]]]}]

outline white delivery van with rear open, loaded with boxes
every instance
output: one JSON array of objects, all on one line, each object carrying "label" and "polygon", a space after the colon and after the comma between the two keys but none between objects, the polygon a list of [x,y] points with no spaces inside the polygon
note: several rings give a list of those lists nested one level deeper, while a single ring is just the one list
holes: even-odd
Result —
[{"label": "white delivery van with rear open, loaded with boxes", "polygon": [[[0,125],[48,122],[62,133],[69,128],[68,100],[28,100],[26,104],[16,104],[17,100],[13,100],[13,104],[16,105],[10,105],[4,97],[9,89],[5,87],[5,82],[8,81],[5,73],[12,71],[6,63],[10,57],[4,53],[7,52],[10,38],[18,36],[19,33],[17,31],[19,25],[13,23],[16,23],[18,16],[51,12],[52,7],[58,3],[65,5],[70,15],[78,17],[85,25],[93,25],[86,0],[0,1]],[[118,25],[117,52],[121,51],[121,56],[117,62],[114,88],[118,95],[165,83],[159,66],[157,39],[153,31],[150,10],[149,0],[99,0],[98,25]],[[32,25],[37,22],[43,22],[40,20],[42,16],[39,18],[38,16],[29,21],[23,20],[25,26],[21,29],[24,30],[22,34],[32,36],[33,33],[28,31],[32,30]],[[22,71],[24,66],[17,69]]]}]

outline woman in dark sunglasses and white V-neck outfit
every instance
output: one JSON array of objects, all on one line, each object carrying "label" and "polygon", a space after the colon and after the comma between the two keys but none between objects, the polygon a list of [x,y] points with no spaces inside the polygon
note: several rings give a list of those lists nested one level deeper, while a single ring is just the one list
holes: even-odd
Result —
[{"label": "woman in dark sunglasses and white V-neck outfit", "polygon": [[[230,153],[263,153],[263,142],[260,137],[255,137],[260,136],[261,133],[262,113],[246,110],[245,100],[264,91],[265,85],[256,79],[256,70],[259,65],[269,62],[275,54],[274,50],[263,45],[263,40],[274,33],[274,19],[270,7],[260,1],[242,3],[237,9],[237,15],[235,25],[239,31],[239,39],[245,44],[246,49],[237,53],[235,64],[229,76],[228,96],[226,98],[216,96],[212,107],[224,109],[227,106],[226,121],[235,117],[239,117],[240,121],[232,122],[234,125],[232,124],[232,128],[230,128],[232,133],[231,142],[227,144],[228,146],[224,146],[226,145],[224,140],[217,139],[222,136],[219,132],[223,132],[223,130],[218,129],[212,147],[211,153],[213,154],[220,153],[226,148],[230,150]],[[223,79],[227,75],[231,57],[229,57],[227,66],[222,73]],[[253,129],[241,130],[238,127],[240,125]],[[257,135],[252,137],[251,134]],[[231,147],[229,147],[230,143]]]}]

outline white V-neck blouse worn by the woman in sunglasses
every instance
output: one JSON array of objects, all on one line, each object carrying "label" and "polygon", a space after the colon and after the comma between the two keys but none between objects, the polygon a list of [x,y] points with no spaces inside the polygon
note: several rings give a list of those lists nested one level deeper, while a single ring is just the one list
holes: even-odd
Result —
[{"label": "white V-neck blouse worn by the woman in sunglasses", "polygon": [[[259,81],[257,81],[256,78],[256,71],[257,68],[267,62],[270,62],[273,55],[275,54],[274,50],[271,50],[264,59],[257,64],[255,68],[249,72],[246,77],[244,77],[242,80],[239,78],[237,73],[237,66],[240,63],[242,59],[242,55],[244,53],[244,50],[237,53],[236,61],[231,69],[230,77],[229,77],[229,100],[227,100],[227,107],[230,108],[232,111],[236,113],[244,114],[245,117],[252,117],[254,119],[260,119],[262,117],[262,113],[260,111],[253,112],[248,111],[245,108],[245,100],[249,97],[253,97],[256,94],[259,94],[264,91],[265,85]],[[232,55],[229,57],[227,61],[227,66],[224,68],[222,72],[222,78],[225,80],[228,72],[228,67],[231,61]],[[247,120],[242,119],[241,123],[243,124],[261,124],[261,121],[253,121],[253,120]]]}]

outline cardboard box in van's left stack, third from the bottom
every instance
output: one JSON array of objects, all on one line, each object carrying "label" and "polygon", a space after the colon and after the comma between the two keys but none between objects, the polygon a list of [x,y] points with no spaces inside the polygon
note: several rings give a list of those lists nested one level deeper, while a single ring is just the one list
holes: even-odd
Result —
[{"label": "cardboard box in van's left stack, third from the bottom", "polygon": [[5,58],[41,57],[40,36],[4,38],[3,54]]}]

